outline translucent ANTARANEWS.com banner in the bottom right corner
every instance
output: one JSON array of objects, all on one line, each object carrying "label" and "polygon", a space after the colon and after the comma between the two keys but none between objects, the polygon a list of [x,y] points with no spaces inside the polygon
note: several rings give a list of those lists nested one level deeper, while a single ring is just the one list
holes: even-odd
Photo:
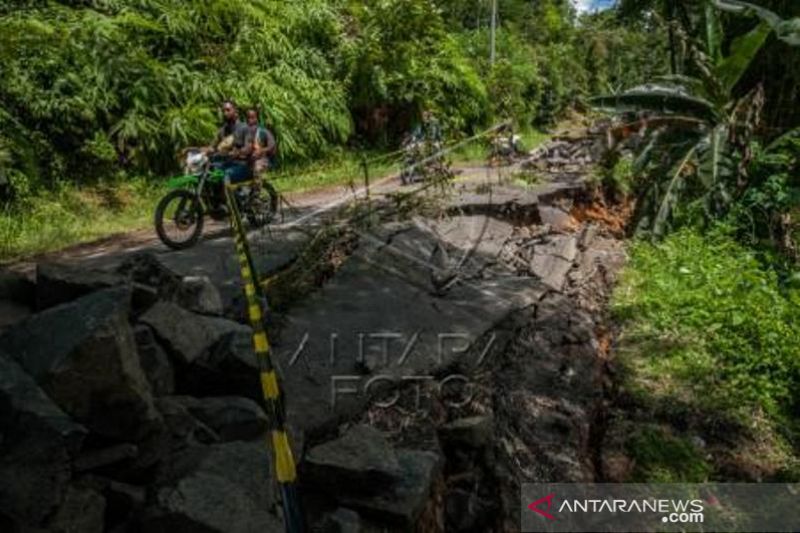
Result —
[{"label": "translucent ANTARANEWS.com banner in the bottom right corner", "polygon": [[529,484],[522,531],[798,531],[800,484]]}]

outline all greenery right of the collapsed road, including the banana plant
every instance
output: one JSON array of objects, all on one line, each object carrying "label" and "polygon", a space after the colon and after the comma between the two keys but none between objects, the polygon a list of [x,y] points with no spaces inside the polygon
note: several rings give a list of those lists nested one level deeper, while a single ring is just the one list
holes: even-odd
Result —
[{"label": "all greenery right of the collapsed road, including the banana plant", "polygon": [[618,12],[664,26],[670,57],[668,76],[593,100],[617,120],[595,178],[635,197],[646,237],[613,302],[630,477],[796,480],[800,115],[782,87],[800,79],[800,5]]}]

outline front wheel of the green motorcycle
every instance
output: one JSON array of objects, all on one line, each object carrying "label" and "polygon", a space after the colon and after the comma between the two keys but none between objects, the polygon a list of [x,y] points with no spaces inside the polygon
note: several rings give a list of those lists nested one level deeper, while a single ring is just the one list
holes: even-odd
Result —
[{"label": "front wheel of the green motorcycle", "polygon": [[190,248],[203,232],[203,206],[192,191],[169,192],[156,207],[156,233],[173,250]]}]

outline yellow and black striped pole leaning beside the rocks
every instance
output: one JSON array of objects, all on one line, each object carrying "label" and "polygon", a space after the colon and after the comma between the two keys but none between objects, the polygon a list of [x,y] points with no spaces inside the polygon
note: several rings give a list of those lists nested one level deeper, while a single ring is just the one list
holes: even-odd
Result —
[{"label": "yellow and black striped pole leaning beside the rocks", "polygon": [[286,412],[283,395],[275,365],[270,356],[270,346],[264,329],[264,306],[266,301],[259,283],[257,271],[247,242],[247,234],[242,225],[242,217],[236,201],[236,185],[226,184],[225,196],[230,210],[231,229],[236,244],[236,255],[242,275],[242,285],[247,302],[247,315],[253,328],[253,347],[258,358],[261,374],[261,390],[264,407],[270,417],[270,434],[274,454],[273,471],[281,489],[283,520],[287,533],[301,533],[305,530],[302,507],[297,491],[297,469],[289,445],[286,431]]}]

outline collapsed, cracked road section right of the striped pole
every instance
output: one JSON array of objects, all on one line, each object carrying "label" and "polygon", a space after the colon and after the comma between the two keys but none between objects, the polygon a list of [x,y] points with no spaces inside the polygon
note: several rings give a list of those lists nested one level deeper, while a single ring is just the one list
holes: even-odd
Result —
[{"label": "collapsed, cracked road section right of the striped pole", "polygon": [[439,211],[357,231],[276,340],[309,511],[513,531],[520,483],[595,479],[598,335],[624,253],[570,217],[583,197],[575,180],[462,181]]}]

